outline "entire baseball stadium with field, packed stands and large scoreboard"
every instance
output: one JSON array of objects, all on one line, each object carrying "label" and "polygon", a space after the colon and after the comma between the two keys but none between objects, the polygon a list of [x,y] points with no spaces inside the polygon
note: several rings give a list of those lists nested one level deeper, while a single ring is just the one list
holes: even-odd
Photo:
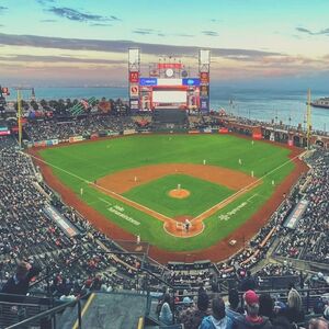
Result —
[{"label": "entire baseball stadium with field, packed stands and large scoreboard", "polygon": [[127,55],[127,100],[0,88],[0,328],[251,328],[262,298],[254,328],[322,316],[329,137],[310,92],[304,128],[240,117],[211,109],[209,50],[194,73]]}]

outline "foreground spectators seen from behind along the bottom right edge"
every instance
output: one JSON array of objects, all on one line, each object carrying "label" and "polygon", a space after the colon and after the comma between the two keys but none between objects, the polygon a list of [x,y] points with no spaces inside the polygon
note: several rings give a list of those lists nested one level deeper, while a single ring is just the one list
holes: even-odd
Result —
[{"label": "foreground spectators seen from behind along the bottom right edge", "polygon": [[[242,294],[241,298],[238,291],[231,288],[228,292],[227,302],[225,302],[220,294],[209,293],[201,287],[194,299],[186,299],[181,306],[178,306],[177,300],[170,302],[167,295],[166,302],[160,298],[159,316],[161,316],[164,303],[167,304],[166,314],[174,314],[178,322],[183,324],[184,328],[191,329],[328,328],[328,300],[315,304],[313,313],[306,315],[303,295],[293,284],[285,293],[284,299],[275,294],[262,293],[259,295],[250,288]],[[168,319],[170,321],[170,317],[166,318],[166,320]],[[324,327],[313,327],[317,322]]]}]

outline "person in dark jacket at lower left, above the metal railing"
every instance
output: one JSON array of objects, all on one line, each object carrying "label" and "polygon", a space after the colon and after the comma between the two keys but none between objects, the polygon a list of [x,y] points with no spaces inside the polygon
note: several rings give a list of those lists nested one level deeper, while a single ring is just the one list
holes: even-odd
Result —
[{"label": "person in dark jacket at lower left, above the metal railing", "polygon": [[20,261],[15,274],[7,281],[1,290],[1,293],[26,295],[31,280],[38,275],[39,272],[39,268],[32,266],[29,262]]}]

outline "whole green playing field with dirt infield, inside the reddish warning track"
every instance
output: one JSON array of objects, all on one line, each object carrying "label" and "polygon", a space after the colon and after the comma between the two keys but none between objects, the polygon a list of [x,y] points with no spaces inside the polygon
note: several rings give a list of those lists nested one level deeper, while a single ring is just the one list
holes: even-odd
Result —
[{"label": "whole green playing field with dirt infield, inside the reddish warning track", "polygon": [[230,135],[127,136],[38,156],[68,194],[170,252],[209,248],[238,229],[242,238],[295,168],[290,149]]}]

